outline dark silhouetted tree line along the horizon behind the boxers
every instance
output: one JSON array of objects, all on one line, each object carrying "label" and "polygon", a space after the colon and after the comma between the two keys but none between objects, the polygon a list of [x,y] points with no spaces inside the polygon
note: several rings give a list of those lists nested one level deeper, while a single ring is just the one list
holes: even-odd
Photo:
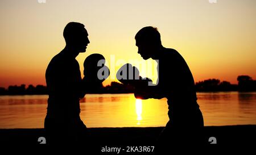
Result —
[{"label": "dark silhouetted tree line along the horizon behind the boxers", "polygon": [[[228,81],[220,81],[220,79],[206,79],[196,82],[197,92],[209,91],[256,91],[256,80],[249,76],[238,76],[238,85],[231,84]],[[134,93],[134,89],[130,85],[124,85],[118,82],[111,82],[108,86],[101,85],[97,89],[88,91],[88,94],[123,94]],[[47,87],[43,85],[20,85],[9,86],[8,89],[0,87],[0,95],[46,95]]]}]

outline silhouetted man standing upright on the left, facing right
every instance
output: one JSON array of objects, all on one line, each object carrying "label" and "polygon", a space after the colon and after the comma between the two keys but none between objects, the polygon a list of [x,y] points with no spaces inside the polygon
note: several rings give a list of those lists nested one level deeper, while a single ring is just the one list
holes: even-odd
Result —
[{"label": "silhouetted man standing upright on the left, facing right", "polygon": [[81,23],[68,23],[63,36],[66,46],[52,58],[46,70],[49,98],[44,128],[50,144],[77,143],[86,131],[80,119],[79,100],[85,92],[76,56],[86,51],[90,41]]}]

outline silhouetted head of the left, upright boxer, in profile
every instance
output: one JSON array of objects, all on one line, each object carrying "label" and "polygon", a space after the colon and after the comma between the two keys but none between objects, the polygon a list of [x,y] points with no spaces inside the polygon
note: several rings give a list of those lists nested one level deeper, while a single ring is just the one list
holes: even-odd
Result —
[{"label": "silhouetted head of the left, upright boxer, in profile", "polygon": [[85,52],[86,46],[90,43],[88,32],[84,24],[70,22],[65,26],[63,36],[66,41],[66,47],[74,52]]}]

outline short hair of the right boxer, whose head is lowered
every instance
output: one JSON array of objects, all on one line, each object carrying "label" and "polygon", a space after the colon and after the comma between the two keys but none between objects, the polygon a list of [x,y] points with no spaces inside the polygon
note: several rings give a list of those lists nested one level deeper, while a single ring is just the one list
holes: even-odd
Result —
[{"label": "short hair of the right boxer, whose head is lowered", "polygon": [[158,28],[147,26],[143,27],[139,32],[135,35],[135,39],[139,41],[148,41],[153,44],[162,44],[160,33],[158,32]]}]

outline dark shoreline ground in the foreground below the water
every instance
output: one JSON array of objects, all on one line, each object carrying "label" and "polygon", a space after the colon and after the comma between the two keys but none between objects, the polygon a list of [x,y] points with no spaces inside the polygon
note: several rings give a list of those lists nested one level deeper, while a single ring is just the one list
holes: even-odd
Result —
[{"label": "dark shoreline ground in the foreground below the water", "polygon": [[[163,127],[146,128],[88,128],[88,141],[85,144],[52,147],[39,144],[39,137],[46,136],[44,129],[0,129],[2,149],[8,152],[49,153],[52,149],[58,153],[71,151],[72,154],[172,154],[174,152],[194,152],[207,149],[208,152],[222,150],[254,150],[256,125],[229,125],[204,127],[204,144],[194,145],[187,140],[185,145],[176,147],[158,145],[158,136]],[[209,138],[215,137],[217,144],[210,144]],[[187,145],[188,144],[188,145]],[[14,147],[15,146],[15,147]],[[9,149],[9,148],[21,148]],[[159,149],[163,148],[163,149]],[[190,149],[192,148],[192,150]],[[143,150],[143,151],[142,151]],[[142,151],[142,152],[141,152]]]}]

